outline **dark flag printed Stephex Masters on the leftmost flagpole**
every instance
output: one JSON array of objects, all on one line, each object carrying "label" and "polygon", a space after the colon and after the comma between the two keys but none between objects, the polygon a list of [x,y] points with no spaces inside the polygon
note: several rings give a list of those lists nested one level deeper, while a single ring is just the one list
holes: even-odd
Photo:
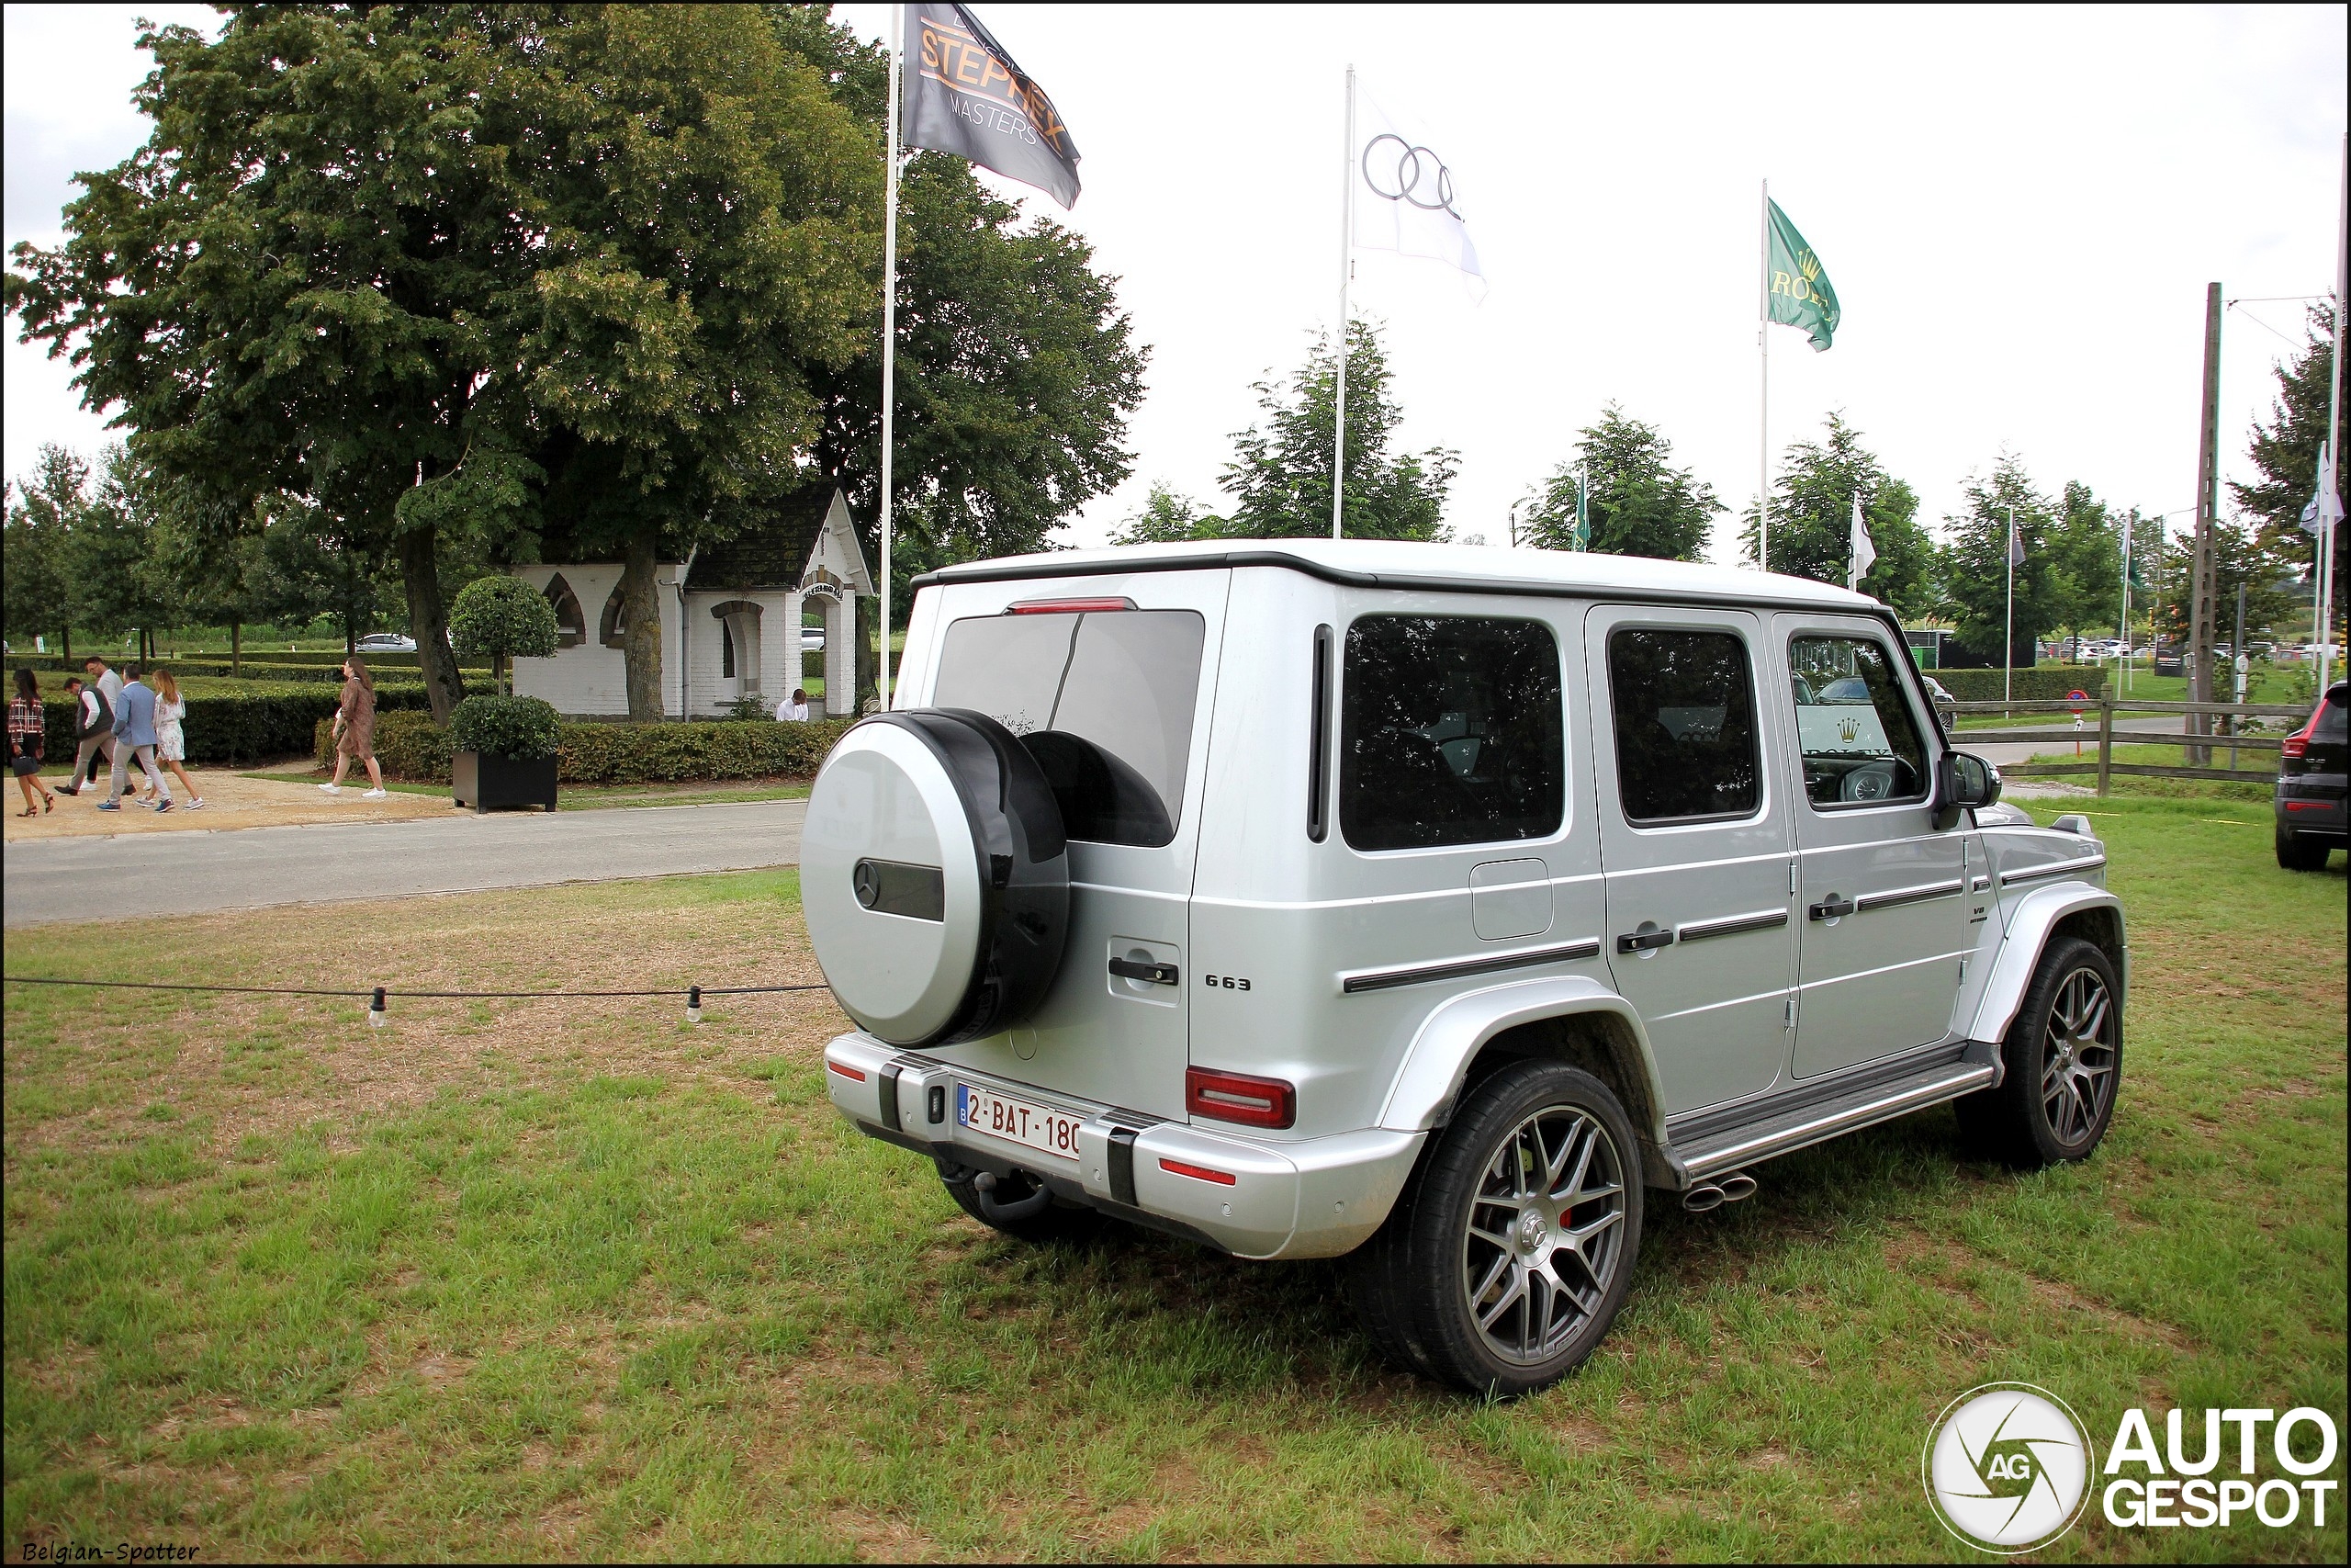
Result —
[{"label": "dark flag printed Stephex Masters on the leftmost flagpole", "polygon": [[905,103],[898,134],[910,148],[969,158],[1004,179],[1077,205],[1077,143],[1044,87],[962,5],[905,7]]}]

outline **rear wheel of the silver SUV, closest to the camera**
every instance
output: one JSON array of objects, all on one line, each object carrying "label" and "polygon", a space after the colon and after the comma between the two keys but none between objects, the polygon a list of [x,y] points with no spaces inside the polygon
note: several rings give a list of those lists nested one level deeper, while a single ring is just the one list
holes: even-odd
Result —
[{"label": "rear wheel of the silver SUV, closest to the camera", "polygon": [[1514,1063],[1462,1100],[1357,1253],[1357,1307],[1396,1363],[1516,1396],[1608,1335],[1639,1253],[1625,1107],[1589,1072]]}]

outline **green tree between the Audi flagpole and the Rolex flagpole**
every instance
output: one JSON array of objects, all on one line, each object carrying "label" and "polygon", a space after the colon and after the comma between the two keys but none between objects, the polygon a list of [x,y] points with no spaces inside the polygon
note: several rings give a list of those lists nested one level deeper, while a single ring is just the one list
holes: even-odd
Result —
[{"label": "green tree between the Audi flagpole and the Rolex flagpole", "polygon": [[1657,425],[1632,418],[1617,404],[1599,423],[1578,433],[1575,456],[1545,480],[1535,508],[1519,527],[1521,543],[1570,550],[1575,543],[1575,475],[1582,468],[1592,498],[1585,520],[1589,548],[1599,555],[1653,555],[1695,562],[1707,550],[1707,531],[1723,510],[1714,487],[1688,468],[1674,468],[1674,444]]}]

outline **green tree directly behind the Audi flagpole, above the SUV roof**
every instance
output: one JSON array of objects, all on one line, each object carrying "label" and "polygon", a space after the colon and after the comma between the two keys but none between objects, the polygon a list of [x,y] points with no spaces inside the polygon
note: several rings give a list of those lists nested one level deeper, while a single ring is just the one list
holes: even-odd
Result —
[{"label": "green tree directly behind the Audi flagpole, above the SUV roof", "polygon": [[[1331,433],[1338,428],[1338,362],[1317,334],[1307,362],[1286,381],[1255,381],[1262,423],[1232,437],[1225,491],[1234,498],[1232,538],[1331,536]],[[1347,538],[1444,538],[1446,491],[1460,454],[1446,447],[1389,451],[1404,409],[1387,350],[1371,322],[1347,324]]]}]

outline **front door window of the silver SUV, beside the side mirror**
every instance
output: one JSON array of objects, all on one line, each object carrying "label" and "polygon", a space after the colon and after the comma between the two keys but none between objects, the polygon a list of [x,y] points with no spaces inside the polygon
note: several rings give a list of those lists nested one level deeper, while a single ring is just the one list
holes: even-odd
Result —
[{"label": "front door window of the silver SUV, beside the side mirror", "polygon": [[1925,745],[1883,644],[1796,637],[1787,675],[1796,693],[1803,792],[1815,806],[1925,799]]}]

